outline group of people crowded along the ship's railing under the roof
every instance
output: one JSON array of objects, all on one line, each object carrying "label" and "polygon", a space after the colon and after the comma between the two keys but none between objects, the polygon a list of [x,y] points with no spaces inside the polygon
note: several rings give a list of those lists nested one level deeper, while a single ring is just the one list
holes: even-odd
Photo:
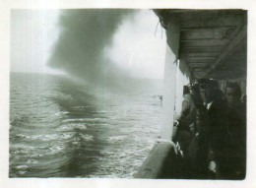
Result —
[{"label": "group of people crowded along the ship's railing under the roof", "polygon": [[217,81],[202,79],[184,87],[178,142],[189,178],[243,179],[246,156],[246,101],[238,84],[225,92]]}]

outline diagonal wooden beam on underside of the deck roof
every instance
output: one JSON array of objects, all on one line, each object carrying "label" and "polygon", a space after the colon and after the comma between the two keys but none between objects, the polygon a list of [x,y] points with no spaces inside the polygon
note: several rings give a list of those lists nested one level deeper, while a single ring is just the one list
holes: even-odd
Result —
[{"label": "diagonal wooden beam on underside of the deck roof", "polygon": [[224,63],[224,61],[233,54],[236,50],[236,47],[246,39],[247,34],[247,25],[241,27],[241,30],[232,38],[232,40],[224,47],[224,51],[220,54],[220,56],[212,63],[210,69],[206,72],[205,77],[208,77],[214,70],[216,70],[220,65]]}]

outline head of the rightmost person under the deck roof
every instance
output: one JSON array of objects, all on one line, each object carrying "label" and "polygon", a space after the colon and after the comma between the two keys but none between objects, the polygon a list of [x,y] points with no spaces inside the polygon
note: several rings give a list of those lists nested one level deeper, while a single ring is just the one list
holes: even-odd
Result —
[{"label": "head of the rightmost person under the deck roof", "polygon": [[225,88],[225,100],[228,106],[239,103],[241,97],[241,89],[237,83],[229,83]]}]

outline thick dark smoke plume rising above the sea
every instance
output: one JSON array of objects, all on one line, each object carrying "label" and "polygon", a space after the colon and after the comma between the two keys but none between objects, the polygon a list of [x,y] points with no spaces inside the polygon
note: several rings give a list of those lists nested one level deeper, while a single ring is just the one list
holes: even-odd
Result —
[{"label": "thick dark smoke plume rising above the sea", "polygon": [[113,64],[104,50],[111,47],[113,35],[122,22],[134,13],[135,10],[126,9],[63,11],[59,20],[60,36],[48,65],[91,84],[125,82],[128,73]]}]

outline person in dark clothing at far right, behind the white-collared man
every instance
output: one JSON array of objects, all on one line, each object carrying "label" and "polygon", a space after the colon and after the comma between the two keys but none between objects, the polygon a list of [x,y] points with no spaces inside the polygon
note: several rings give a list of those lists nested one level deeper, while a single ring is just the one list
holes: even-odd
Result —
[{"label": "person in dark clothing at far right, behind the white-collared man", "polygon": [[225,90],[228,124],[224,151],[224,169],[221,174],[225,179],[243,179],[245,176],[246,153],[246,112],[240,100],[241,90],[238,84],[229,83]]}]

